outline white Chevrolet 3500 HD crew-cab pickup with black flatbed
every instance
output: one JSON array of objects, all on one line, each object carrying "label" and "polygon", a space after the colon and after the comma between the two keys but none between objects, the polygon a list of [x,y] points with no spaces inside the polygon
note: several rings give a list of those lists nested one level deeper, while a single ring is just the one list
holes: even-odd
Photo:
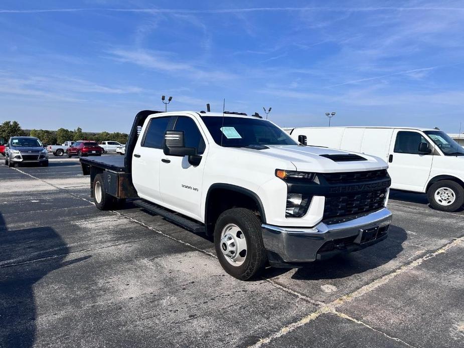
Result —
[{"label": "white Chevrolet 3500 HD crew-cab pickup with black flatbed", "polygon": [[125,199],[214,237],[230,275],[302,267],[387,238],[387,164],[303,146],[244,113],[140,111],[125,156],[80,158],[100,210]]}]

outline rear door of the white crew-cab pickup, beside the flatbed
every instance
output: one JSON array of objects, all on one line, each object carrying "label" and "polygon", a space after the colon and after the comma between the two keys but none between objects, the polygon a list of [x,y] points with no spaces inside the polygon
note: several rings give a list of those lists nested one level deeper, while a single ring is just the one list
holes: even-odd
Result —
[{"label": "rear door of the white crew-cab pickup, beside the flatbed", "polygon": [[170,129],[171,116],[152,117],[145,121],[137,144],[132,152],[132,183],[138,196],[162,204],[160,194],[160,163],[165,132]]}]

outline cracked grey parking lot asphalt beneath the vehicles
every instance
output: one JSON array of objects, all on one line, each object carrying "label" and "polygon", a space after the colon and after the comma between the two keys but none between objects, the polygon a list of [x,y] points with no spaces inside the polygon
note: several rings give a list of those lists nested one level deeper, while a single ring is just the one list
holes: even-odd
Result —
[{"label": "cracked grey parking lot asphalt beneath the vehicles", "polygon": [[391,193],[379,244],[242,282],[201,234],[98,211],[75,158],[0,183],[0,347],[464,346],[464,212],[423,195]]}]

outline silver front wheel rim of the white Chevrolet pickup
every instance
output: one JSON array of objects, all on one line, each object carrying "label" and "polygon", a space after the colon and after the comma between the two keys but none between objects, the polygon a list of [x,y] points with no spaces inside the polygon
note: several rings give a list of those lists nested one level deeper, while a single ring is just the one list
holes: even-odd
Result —
[{"label": "silver front wheel rim of the white Chevrolet pickup", "polygon": [[227,262],[240,266],[246,259],[246,239],[240,227],[228,224],[221,233],[221,251]]}]

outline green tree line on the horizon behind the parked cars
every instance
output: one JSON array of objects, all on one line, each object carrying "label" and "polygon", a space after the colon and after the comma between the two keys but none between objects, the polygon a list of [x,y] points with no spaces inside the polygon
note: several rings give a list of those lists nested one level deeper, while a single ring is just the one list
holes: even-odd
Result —
[{"label": "green tree line on the horizon behind the parked cars", "polygon": [[22,129],[17,121],[5,121],[0,124],[0,139],[7,142],[11,136],[35,136],[39,138],[42,143],[47,145],[62,144],[67,140],[95,140],[102,142],[105,140],[112,140],[125,144],[128,134],[120,132],[83,132],[82,128],[77,127],[74,130],[66,128],[59,128],[58,130],[46,129]]}]

